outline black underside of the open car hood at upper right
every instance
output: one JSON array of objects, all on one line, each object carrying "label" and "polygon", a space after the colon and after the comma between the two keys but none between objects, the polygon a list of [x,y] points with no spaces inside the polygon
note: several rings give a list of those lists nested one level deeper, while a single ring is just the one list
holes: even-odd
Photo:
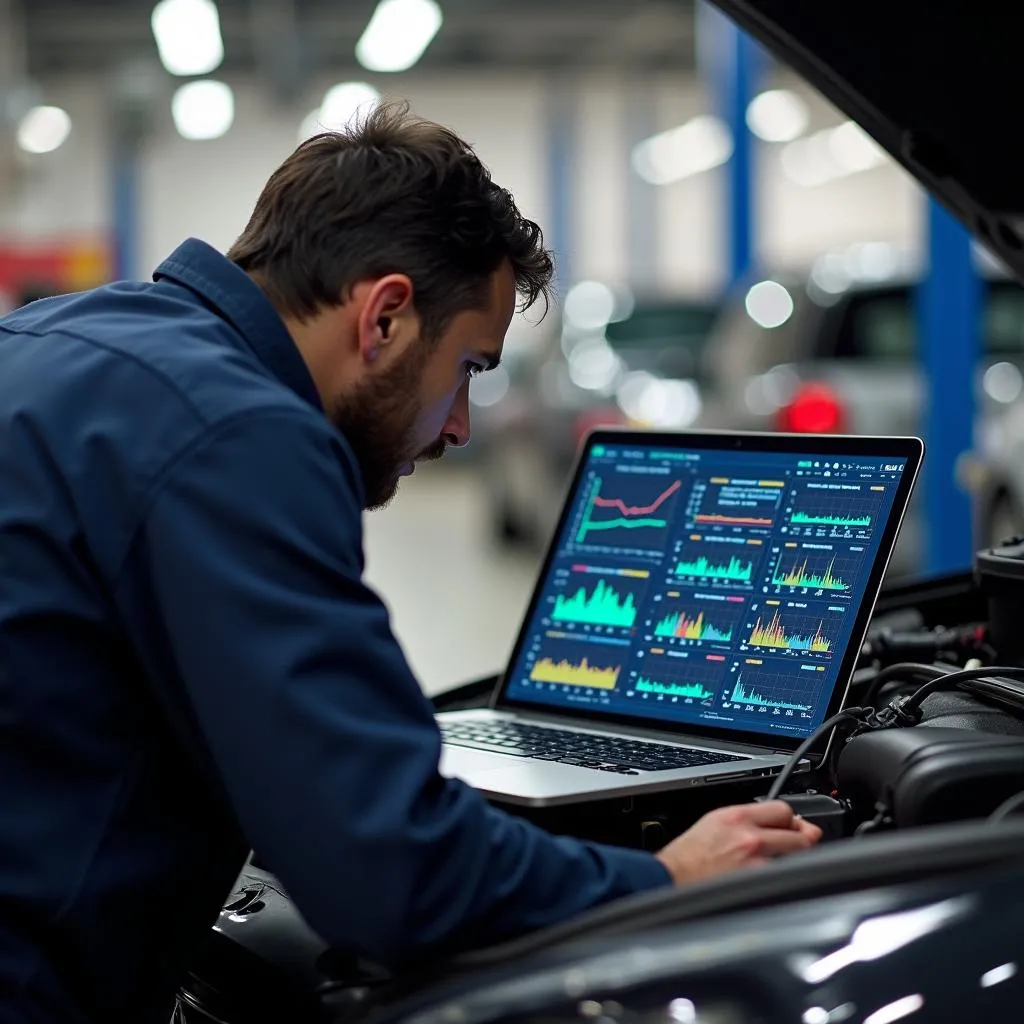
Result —
[{"label": "black underside of the open car hood at upper right", "polygon": [[1024,281],[1024,14],[993,0],[712,0]]}]

